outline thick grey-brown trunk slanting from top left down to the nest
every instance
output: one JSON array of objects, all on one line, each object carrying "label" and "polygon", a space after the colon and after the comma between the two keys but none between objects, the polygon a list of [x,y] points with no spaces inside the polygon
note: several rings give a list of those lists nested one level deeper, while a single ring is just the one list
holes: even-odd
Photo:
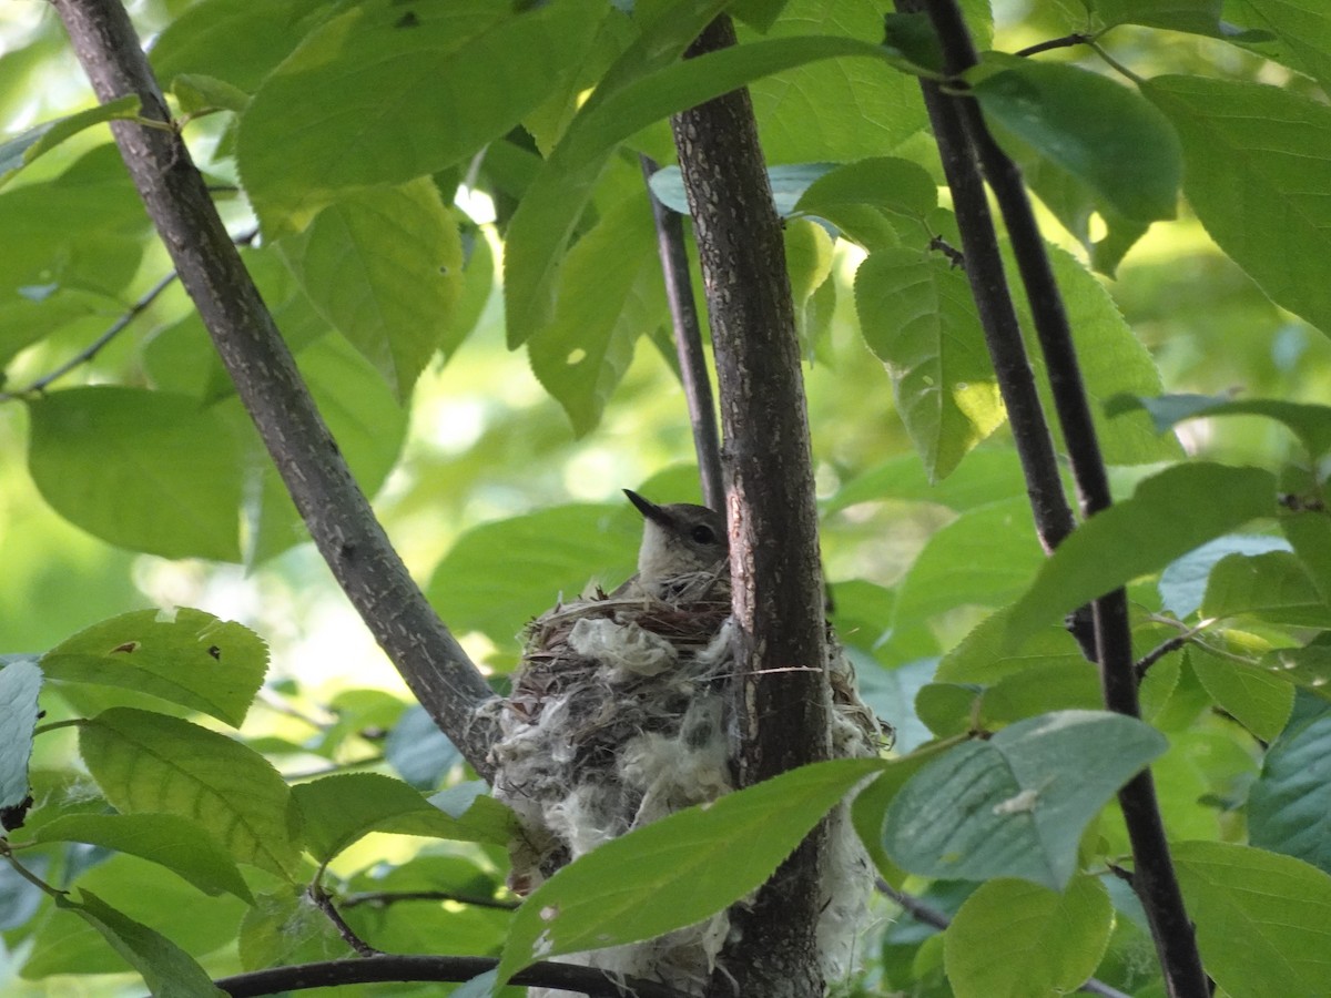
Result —
[{"label": "thick grey-brown trunk slanting from top left down to the nest", "polygon": [[[98,100],[170,114],[118,0],[52,0]],[[112,125],[129,174],[314,543],[411,692],[479,772],[491,697],[393,550],[305,389],[208,188],[173,128]]]}]

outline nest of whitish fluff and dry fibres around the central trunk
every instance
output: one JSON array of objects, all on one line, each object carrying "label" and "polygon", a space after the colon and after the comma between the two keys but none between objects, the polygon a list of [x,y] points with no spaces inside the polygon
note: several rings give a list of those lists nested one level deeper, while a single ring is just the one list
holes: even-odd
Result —
[{"label": "nest of whitish fluff and dry fibres around the central trunk", "polygon": [[[733,789],[729,593],[713,576],[679,595],[578,600],[528,628],[491,753],[495,797],[524,832],[510,850],[519,894],[611,838]],[[876,756],[878,723],[856,696],[845,656],[828,645],[833,754]],[[819,946],[836,981],[853,967],[873,877],[844,804],[829,824]],[[729,930],[723,912],[572,959],[701,994]]]}]

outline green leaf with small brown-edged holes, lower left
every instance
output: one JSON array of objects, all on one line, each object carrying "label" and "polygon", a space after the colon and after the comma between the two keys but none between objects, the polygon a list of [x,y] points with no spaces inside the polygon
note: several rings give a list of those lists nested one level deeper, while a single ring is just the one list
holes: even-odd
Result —
[{"label": "green leaf with small brown-edged holes, lower left", "polygon": [[268,647],[201,609],[138,609],[61,641],[41,668],[61,683],[134,689],[238,728],[264,683]]}]

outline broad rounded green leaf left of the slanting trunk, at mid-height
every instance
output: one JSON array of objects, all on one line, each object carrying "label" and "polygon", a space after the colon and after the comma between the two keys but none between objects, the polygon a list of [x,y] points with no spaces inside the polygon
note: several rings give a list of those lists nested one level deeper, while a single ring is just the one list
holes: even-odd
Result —
[{"label": "broad rounded green leaf left of the slanting trunk, at mid-height", "polygon": [[109,385],[28,406],[28,468],[61,516],[133,551],[240,560],[240,455],[214,413],[188,395]]}]

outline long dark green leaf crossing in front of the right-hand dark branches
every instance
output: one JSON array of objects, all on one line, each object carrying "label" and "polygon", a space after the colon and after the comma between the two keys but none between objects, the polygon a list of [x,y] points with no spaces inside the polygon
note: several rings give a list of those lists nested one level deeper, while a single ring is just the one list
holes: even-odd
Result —
[{"label": "long dark green leaf crossing in front of the right-hand dark branches", "polygon": [[1013,607],[1009,647],[1199,544],[1272,515],[1275,479],[1266,471],[1206,462],[1166,468],[1086,520],[1045,562]]}]

